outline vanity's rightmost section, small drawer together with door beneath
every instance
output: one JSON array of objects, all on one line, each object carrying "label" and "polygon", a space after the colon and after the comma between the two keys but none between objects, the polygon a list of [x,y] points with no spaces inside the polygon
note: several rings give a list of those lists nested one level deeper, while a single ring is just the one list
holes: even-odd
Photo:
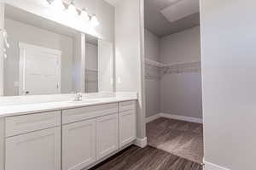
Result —
[{"label": "vanity's rightmost section, small drawer together with door beneath", "polygon": [[130,144],[137,136],[136,101],[119,103],[119,147]]}]

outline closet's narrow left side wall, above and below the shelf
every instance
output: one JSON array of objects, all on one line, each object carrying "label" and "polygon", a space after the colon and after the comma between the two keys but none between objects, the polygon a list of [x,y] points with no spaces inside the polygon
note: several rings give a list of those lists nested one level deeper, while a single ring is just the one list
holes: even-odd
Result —
[{"label": "closet's narrow left side wall, above and below the shelf", "polygon": [[[145,58],[160,60],[160,37],[145,29]],[[147,66],[147,65],[146,65]],[[157,68],[152,74],[157,73]],[[160,81],[158,79],[145,79],[146,90],[146,117],[160,113]]]}]

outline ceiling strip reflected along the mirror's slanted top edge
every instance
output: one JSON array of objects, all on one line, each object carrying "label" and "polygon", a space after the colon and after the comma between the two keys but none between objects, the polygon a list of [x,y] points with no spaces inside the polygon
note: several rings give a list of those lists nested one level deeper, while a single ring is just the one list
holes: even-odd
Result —
[{"label": "ceiling strip reflected along the mirror's slanted top edge", "polygon": [[20,21],[30,26],[43,28],[45,30],[54,31],[62,35],[69,37],[75,37],[78,31],[62,26],[61,24],[55,23],[54,21],[44,19],[36,14],[28,13],[20,8],[15,8],[8,4],[5,4],[5,17],[11,20]]}]

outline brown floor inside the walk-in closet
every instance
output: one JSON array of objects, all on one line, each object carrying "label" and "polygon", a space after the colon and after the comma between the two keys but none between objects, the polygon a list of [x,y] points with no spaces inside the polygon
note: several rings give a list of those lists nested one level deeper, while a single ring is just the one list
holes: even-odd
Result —
[{"label": "brown floor inside the walk-in closet", "polygon": [[154,148],[198,163],[203,160],[202,124],[160,117],[147,124],[147,137]]}]

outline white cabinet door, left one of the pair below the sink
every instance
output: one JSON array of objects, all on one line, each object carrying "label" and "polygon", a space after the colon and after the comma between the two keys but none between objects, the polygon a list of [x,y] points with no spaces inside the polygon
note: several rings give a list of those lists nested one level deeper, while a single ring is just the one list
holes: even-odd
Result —
[{"label": "white cabinet door, left one of the pair below the sink", "polygon": [[96,161],[96,120],[62,127],[63,170],[80,170]]}]

